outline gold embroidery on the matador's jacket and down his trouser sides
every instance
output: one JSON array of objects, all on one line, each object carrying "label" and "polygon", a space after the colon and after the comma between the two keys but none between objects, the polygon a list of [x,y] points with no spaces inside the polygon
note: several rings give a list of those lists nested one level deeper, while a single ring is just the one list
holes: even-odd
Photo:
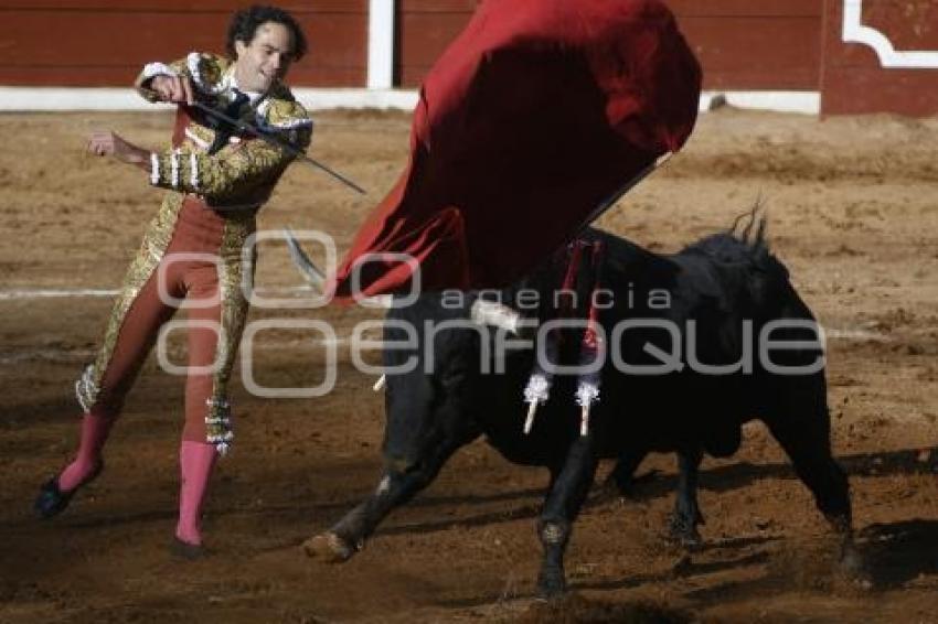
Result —
[{"label": "gold embroidery on the matador's jacket and down his trouser sides", "polygon": [[[192,53],[186,58],[170,64],[169,68],[177,75],[190,76],[196,89],[205,94],[224,95],[231,87],[232,64],[218,56]],[[148,85],[148,79],[141,74],[135,86],[140,95],[154,101],[156,93],[145,86]],[[275,85],[260,101],[252,121],[265,130],[278,132],[301,150],[309,144],[312,122],[303,107],[284,85]],[[254,281],[256,260],[254,249],[243,248],[256,228],[257,208],[268,198],[294,157],[259,139],[233,141],[217,153],[209,155],[206,146],[212,143],[214,137],[213,129],[193,120],[189,123],[185,138],[179,147],[153,154],[152,184],[171,187],[180,193],[167,195],[157,218],[150,224],[140,251],[128,269],[120,295],[115,302],[97,359],[76,383],[76,394],[83,406],[90,407],[98,399],[100,381],[114,353],[120,326],[140,289],[169,247],[184,194],[198,194],[210,206],[234,205],[245,208],[221,213],[225,218],[218,250],[221,318],[216,361],[221,365],[213,377],[212,396],[206,406],[205,429],[206,441],[215,444],[220,453],[224,453],[233,439],[227,384],[247,320],[247,289]]]}]

